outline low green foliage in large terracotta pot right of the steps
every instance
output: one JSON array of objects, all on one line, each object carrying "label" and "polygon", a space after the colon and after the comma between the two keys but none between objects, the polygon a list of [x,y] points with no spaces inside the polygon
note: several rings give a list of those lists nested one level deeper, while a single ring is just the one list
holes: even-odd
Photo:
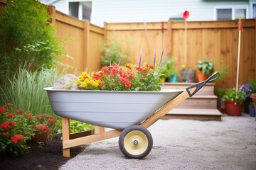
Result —
[{"label": "low green foliage in large terracotta pot right of the steps", "polygon": [[245,101],[245,94],[242,91],[228,90],[223,96],[223,101],[234,101],[235,103],[242,103]]}]

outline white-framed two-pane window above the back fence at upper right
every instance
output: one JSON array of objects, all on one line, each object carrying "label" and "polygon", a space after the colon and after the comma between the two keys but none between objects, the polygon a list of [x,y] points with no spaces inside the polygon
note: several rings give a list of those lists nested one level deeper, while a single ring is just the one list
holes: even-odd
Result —
[{"label": "white-framed two-pane window above the back fence at upper right", "polygon": [[215,20],[232,20],[232,19],[244,19],[248,18],[248,7],[247,6],[236,6],[236,7],[215,7]]}]

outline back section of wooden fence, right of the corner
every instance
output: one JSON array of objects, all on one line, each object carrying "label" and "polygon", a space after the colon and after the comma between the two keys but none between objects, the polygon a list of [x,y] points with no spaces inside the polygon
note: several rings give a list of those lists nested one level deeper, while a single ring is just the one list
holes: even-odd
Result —
[{"label": "back section of wooden fence, right of the corner", "polygon": [[[256,80],[256,20],[243,20],[240,48],[240,81]],[[152,62],[153,52],[161,55],[164,46],[167,57],[177,57],[177,70],[181,70],[185,55],[184,21],[159,23],[105,23],[105,38],[116,40],[121,47],[130,47],[131,62],[143,49],[144,62]],[[196,69],[196,62],[208,57],[220,70],[223,62],[228,66],[225,79],[217,82],[220,88],[233,88],[236,84],[238,58],[238,21],[195,21],[187,23],[187,66]],[[124,51],[125,52],[125,51]],[[127,51],[126,51],[127,52]],[[181,76],[179,78],[181,81]]]}]

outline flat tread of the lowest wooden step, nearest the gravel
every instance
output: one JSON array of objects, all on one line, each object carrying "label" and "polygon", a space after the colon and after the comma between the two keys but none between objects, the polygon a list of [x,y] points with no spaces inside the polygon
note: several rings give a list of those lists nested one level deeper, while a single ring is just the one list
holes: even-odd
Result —
[{"label": "flat tread of the lowest wooden step, nearest the gravel", "polygon": [[222,115],[218,109],[209,108],[173,108],[169,113],[173,115]]}]

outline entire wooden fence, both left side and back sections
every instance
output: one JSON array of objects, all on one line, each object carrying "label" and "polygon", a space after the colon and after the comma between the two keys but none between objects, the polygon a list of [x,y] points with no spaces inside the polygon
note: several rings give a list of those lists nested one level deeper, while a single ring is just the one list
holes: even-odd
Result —
[{"label": "entire wooden fence, both left side and back sections", "polygon": [[[1,7],[6,4],[0,0]],[[120,50],[129,56],[129,62],[137,63],[137,56],[143,50],[142,62],[152,62],[156,49],[157,60],[162,47],[167,57],[177,57],[179,71],[184,63],[185,29],[184,21],[156,23],[105,23],[104,28],[92,25],[89,21],[55,11],[49,6],[50,20],[55,24],[56,33],[64,42],[65,51],[72,58],[61,57],[72,68],[68,72],[81,72],[85,69],[100,69],[100,43],[102,40],[115,40]],[[245,84],[248,78],[256,80],[256,20],[243,20],[240,52],[240,81]],[[220,63],[227,65],[228,74],[217,87],[233,88],[236,81],[238,57],[238,21],[193,21],[188,22],[187,47],[188,68],[196,69],[196,62],[208,57],[215,60],[215,70]],[[181,76],[179,77],[181,81]]]}]

